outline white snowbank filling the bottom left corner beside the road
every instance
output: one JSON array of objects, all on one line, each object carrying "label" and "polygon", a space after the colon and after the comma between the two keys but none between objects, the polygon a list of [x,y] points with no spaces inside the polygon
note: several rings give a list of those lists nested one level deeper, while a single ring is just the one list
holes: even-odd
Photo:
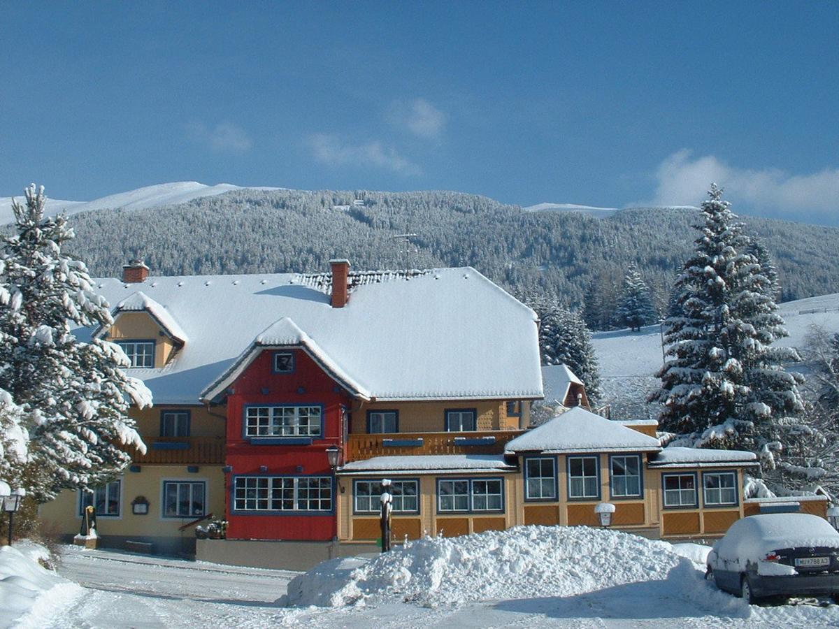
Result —
[{"label": "white snowbank filling the bottom left corner beside the road", "polygon": [[55,606],[81,594],[81,586],[40,566],[38,560],[49,556],[34,543],[0,548],[0,627],[39,626]]}]

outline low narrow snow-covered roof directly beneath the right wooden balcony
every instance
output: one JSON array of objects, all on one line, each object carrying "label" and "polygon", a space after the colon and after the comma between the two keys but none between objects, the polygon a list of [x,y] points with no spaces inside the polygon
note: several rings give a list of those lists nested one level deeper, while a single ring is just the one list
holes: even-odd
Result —
[{"label": "low narrow snow-covered roof directly beneath the right wooden balcony", "polygon": [[352,476],[381,476],[388,474],[446,474],[450,472],[515,471],[502,455],[415,455],[376,456],[373,459],[355,460],[338,471]]}]

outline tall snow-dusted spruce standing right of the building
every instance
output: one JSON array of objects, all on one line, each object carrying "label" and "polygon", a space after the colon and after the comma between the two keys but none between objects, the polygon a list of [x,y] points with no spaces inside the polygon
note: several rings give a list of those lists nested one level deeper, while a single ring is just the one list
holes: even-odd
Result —
[{"label": "tall snow-dusted spruce standing right of the building", "polygon": [[[709,197],[696,252],[676,282],[681,314],[665,321],[670,360],[649,401],[663,405],[662,429],[682,442],[752,450],[764,471],[776,470],[784,456],[798,458],[802,442],[820,437],[800,419],[803,378],[783,367],[800,357],[771,346],[787,335],[771,283],[722,190],[711,185]],[[792,472],[798,464],[788,465]]]}]

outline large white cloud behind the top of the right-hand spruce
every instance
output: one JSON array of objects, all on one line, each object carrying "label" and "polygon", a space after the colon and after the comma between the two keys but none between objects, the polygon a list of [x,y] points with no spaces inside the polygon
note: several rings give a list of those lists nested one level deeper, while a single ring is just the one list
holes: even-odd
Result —
[{"label": "large white cloud behind the top of the right-hand spruce", "polygon": [[761,213],[833,222],[839,211],[839,169],[813,174],[738,169],[713,155],[694,158],[682,149],[659,164],[655,179],[655,198],[650,205],[699,205],[708,186],[716,182],[729,200],[746,203]]}]

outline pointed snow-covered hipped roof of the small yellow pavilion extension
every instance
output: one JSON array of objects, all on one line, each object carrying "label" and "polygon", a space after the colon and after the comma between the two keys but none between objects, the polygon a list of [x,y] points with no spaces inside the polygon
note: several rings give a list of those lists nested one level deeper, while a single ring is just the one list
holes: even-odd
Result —
[{"label": "pointed snow-covered hipped roof of the small yellow pavilion extension", "polygon": [[655,452],[659,440],[579,406],[516,437],[509,453],[524,452]]}]

